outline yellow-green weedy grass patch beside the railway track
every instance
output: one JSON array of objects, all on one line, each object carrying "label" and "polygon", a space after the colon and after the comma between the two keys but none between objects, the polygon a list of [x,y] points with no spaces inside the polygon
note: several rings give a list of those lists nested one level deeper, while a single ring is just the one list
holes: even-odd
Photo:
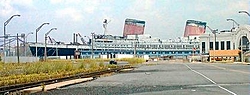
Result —
[{"label": "yellow-green weedy grass patch beside the railway track", "polygon": [[[145,62],[139,58],[124,58],[129,64]],[[105,65],[109,59],[48,60],[35,63],[0,63],[0,86],[37,82],[53,78],[62,78],[80,73],[117,68],[117,65]]]}]

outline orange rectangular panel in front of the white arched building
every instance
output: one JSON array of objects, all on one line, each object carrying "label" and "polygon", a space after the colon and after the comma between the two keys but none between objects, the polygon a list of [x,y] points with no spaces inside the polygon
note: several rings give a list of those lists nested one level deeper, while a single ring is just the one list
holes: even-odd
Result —
[{"label": "orange rectangular panel in front of the white arched building", "polygon": [[233,57],[239,56],[240,50],[210,50],[209,56],[215,57]]}]

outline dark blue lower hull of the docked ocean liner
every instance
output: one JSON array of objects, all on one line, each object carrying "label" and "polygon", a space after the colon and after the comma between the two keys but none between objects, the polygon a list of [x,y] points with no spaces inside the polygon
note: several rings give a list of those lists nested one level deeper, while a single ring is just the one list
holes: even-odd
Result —
[{"label": "dark blue lower hull of the docked ocean liner", "polygon": [[[33,56],[36,56],[36,46],[30,45],[30,50]],[[37,56],[44,56],[44,45],[37,46]],[[92,56],[91,46],[86,45],[48,45],[46,47],[47,56],[75,56],[76,51],[79,51],[78,58],[90,58]],[[99,55],[114,55],[114,54],[134,54],[149,57],[175,56],[176,58],[186,58],[189,55],[199,54],[199,50],[193,49],[142,49],[142,48],[93,48],[93,56]]]}]

